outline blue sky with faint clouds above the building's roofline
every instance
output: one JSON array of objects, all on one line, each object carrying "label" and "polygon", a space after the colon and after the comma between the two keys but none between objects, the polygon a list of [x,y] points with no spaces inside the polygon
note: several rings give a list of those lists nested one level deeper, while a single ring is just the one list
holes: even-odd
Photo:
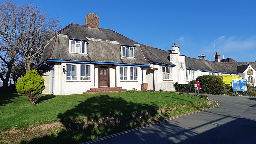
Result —
[{"label": "blue sky with faint clouds above the building's roofline", "polygon": [[91,12],[100,17],[100,28],[112,29],[132,40],[163,50],[175,42],[182,55],[214,60],[214,44],[221,59],[256,61],[255,0],[194,1],[54,1],[33,2],[50,16],[60,18],[62,28],[70,23],[85,25]]}]

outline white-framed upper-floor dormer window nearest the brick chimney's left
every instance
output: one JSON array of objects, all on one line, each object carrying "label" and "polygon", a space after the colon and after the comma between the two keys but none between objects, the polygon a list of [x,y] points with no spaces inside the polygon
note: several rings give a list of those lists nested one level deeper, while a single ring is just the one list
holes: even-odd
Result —
[{"label": "white-framed upper-floor dormer window nearest the brick chimney's left", "polygon": [[70,53],[82,53],[87,54],[87,43],[80,41],[69,41],[69,52]]}]

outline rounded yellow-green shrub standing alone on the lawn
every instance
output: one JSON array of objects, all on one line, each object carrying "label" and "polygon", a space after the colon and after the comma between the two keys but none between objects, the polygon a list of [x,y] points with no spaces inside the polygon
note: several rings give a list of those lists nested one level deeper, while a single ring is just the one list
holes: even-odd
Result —
[{"label": "rounded yellow-green shrub standing alone on the lawn", "polygon": [[31,105],[36,104],[37,96],[43,92],[44,88],[44,79],[36,70],[28,71],[16,83],[17,92],[24,94],[31,101]]}]

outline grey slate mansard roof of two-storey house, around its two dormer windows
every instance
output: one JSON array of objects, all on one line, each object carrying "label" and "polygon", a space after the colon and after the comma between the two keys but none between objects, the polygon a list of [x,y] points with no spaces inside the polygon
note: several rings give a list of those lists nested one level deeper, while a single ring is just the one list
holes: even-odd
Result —
[{"label": "grey slate mansard roof of two-storey house, around its two dormer windows", "polygon": [[[45,46],[40,63],[48,59],[113,62],[149,65],[139,43],[109,29],[88,28],[84,25],[69,24]],[[87,54],[69,53],[69,38],[88,40]],[[136,46],[135,58],[121,58],[120,44]]]}]

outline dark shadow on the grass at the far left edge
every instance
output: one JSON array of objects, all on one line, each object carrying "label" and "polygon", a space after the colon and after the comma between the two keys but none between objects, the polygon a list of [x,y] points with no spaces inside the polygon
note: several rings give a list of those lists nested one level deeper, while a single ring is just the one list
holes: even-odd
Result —
[{"label": "dark shadow on the grass at the far left edge", "polygon": [[10,85],[7,87],[0,87],[0,106],[12,103],[13,99],[21,96],[15,89],[15,85]]}]

